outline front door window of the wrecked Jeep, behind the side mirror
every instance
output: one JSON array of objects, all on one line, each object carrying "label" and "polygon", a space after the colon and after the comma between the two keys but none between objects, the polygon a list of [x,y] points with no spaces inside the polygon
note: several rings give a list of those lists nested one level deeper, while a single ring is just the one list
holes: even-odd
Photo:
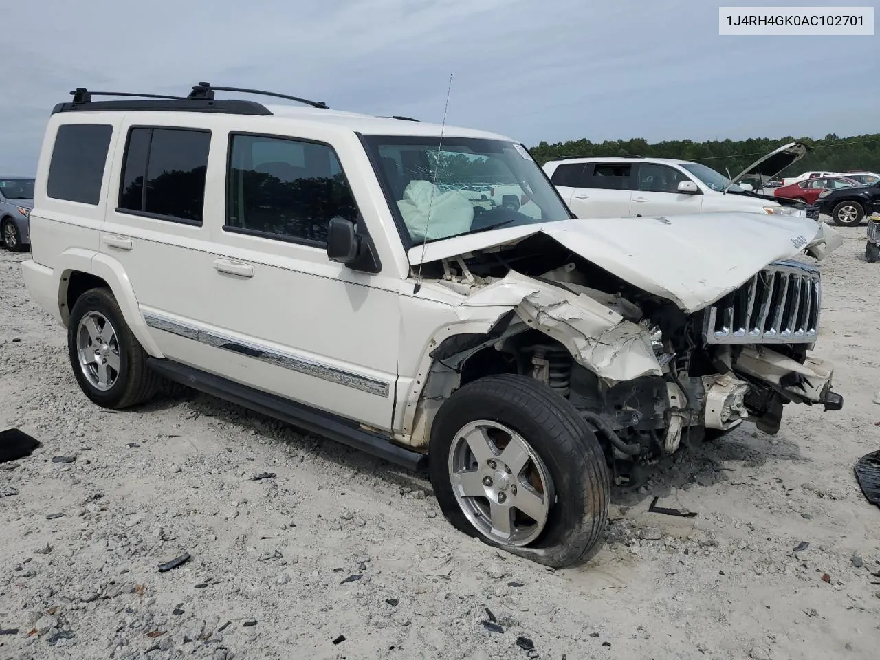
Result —
[{"label": "front door window of the wrecked Jeep, behind the side mirror", "polygon": [[282,137],[231,136],[226,229],[315,246],[357,205],[333,148]]}]

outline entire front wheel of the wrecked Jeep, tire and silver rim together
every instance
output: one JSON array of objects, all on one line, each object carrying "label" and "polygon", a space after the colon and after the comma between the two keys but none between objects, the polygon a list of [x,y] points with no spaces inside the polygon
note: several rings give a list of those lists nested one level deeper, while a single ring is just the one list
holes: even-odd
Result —
[{"label": "entire front wheel of the wrecked Jeep, tire and silver rim together", "polygon": [[568,400],[533,378],[480,378],[436,414],[429,471],[458,530],[561,568],[598,546],[611,488],[605,454]]}]

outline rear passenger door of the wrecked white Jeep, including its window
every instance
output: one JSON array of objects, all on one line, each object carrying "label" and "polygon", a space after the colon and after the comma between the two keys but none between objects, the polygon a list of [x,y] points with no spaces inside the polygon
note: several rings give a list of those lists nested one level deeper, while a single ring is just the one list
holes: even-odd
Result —
[{"label": "rear passenger door of the wrecked white Jeep, including its window", "polygon": [[192,357],[198,319],[216,304],[202,216],[206,193],[223,188],[208,183],[211,131],[187,123],[155,125],[143,113],[122,121],[99,249],[128,276],[163,354],[205,369]]}]

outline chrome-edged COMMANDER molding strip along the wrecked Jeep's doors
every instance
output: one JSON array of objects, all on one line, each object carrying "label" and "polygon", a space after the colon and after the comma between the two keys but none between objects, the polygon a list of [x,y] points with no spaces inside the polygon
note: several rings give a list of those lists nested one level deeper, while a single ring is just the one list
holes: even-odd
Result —
[{"label": "chrome-edged COMMANDER molding strip along the wrecked Jeep's doors", "polygon": [[177,334],[186,339],[198,341],[206,346],[222,348],[238,353],[239,355],[253,357],[267,364],[282,367],[291,371],[297,371],[307,376],[321,378],[337,385],[345,385],[362,392],[375,394],[387,399],[391,393],[391,385],[375,378],[369,378],[362,374],[351,371],[336,369],[327,364],[316,362],[312,359],[296,356],[290,353],[282,353],[273,348],[261,346],[250,341],[233,339],[224,334],[216,333],[205,328],[183,323],[178,320],[156,314],[155,312],[143,312],[143,319],[147,326],[162,330],[166,333]]}]

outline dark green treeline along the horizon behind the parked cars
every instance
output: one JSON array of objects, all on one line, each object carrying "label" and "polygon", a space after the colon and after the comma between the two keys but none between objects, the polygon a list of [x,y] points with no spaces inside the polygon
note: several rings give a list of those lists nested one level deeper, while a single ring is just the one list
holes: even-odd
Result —
[{"label": "dark green treeline along the horizon behind the parked cars", "polygon": [[654,144],[649,144],[641,138],[609,140],[603,143],[575,140],[554,144],[542,142],[537,147],[533,147],[531,152],[541,165],[554,158],[637,154],[652,158],[693,160],[708,165],[718,172],[724,172],[727,169],[731,174],[737,174],[763,154],[796,139],[809,144],[812,150],[795,165],[789,167],[787,171],[782,172],[783,176],[792,176],[807,170],[880,172],[880,133],[852,137],[827,135],[821,140],[783,137],[779,140],[760,138],[722,140],[721,142],[716,140],[708,142],[664,140],[664,142]]}]

